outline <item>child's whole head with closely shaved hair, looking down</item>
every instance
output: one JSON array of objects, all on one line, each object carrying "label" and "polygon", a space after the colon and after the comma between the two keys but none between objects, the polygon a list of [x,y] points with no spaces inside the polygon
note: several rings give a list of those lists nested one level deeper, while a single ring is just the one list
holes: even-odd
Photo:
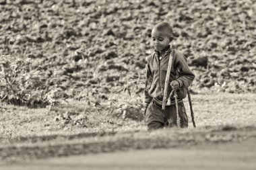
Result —
[{"label": "child's whole head with closely shaved hair, looking down", "polygon": [[172,27],[167,22],[156,24],[151,36],[155,50],[162,51],[172,42]]}]

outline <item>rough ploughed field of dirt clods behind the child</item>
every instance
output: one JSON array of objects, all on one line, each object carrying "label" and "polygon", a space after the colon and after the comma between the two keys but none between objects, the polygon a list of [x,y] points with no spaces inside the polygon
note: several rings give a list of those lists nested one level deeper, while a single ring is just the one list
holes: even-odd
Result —
[{"label": "rough ploughed field of dirt clods behind the child", "polygon": [[192,91],[255,93],[255,9],[251,0],[1,0],[1,74],[13,87],[1,77],[0,97],[140,98],[158,22],[174,29],[196,75]]}]

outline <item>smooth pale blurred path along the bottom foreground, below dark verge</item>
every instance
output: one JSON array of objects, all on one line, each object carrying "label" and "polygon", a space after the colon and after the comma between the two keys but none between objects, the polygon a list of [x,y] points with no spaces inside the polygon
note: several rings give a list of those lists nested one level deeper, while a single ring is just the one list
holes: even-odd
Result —
[{"label": "smooth pale blurred path along the bottom foreground, below dark verge", "polygon": [[44,159],[0,169],[255,169],[256,140]]}]

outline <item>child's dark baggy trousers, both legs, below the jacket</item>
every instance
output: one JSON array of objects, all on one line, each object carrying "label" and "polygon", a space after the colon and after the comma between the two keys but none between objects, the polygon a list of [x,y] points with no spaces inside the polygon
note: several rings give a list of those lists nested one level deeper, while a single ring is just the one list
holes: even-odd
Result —
[{"label": "child's dark baggy trousers, both legs, below the jacket", "polygon": [[[179,118],[181,128],[187,128],[188,118],[183,102],[179,103]],[[177,110],[176,105],[166,105],[162,110],[162,105],[158,105],[155,101],[151,101],[146,110],[146,124],[148,130],[177,127]]]}]

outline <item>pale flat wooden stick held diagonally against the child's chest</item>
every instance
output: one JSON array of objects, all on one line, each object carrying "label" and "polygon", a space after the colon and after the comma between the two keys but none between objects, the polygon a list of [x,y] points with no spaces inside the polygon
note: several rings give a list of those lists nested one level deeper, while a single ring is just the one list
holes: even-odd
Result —
[{"label": "pale flat wooden stick held diagonally against the child's chest", "polygon": [[167,91],[168,91],[168,85],[169,85],[169,79],[170,79],[170,70],[172,69],[173,54],[174,54],[174,48],[172,48],[172,52],[170,52],[168,69],[167,69],[165,82],[164,82],[164,98],[162,99],[162,110],[164,110],[166,105],[166,100],[167,100]]}]

